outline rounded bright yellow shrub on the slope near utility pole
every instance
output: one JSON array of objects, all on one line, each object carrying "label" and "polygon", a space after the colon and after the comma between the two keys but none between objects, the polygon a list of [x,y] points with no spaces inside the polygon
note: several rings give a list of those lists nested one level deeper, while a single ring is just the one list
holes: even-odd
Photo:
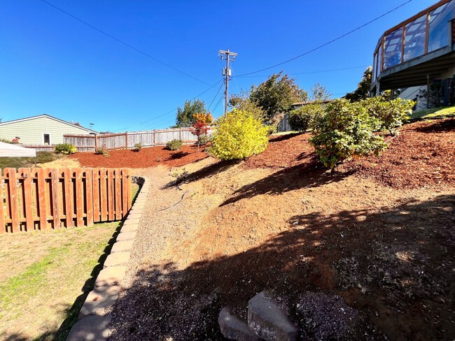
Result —
[{"label": "rounded bright yellow shrub on the slope near utility pole", "polygon": [[263,152],[268,142],[267,126],[252,113],[235,109],[219,119],[210,151],[218,159],[245,159]]}]

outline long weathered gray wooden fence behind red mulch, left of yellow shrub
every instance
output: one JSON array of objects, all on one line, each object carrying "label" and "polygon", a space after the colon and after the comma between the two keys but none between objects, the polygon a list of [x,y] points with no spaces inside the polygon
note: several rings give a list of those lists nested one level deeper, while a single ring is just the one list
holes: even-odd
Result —
[{"label": "long weathered gray wooden fence behind red mulch, left of yellow shrub", "polygon": [[[209,134],[211,130],[209,130]],[[191,133],[191,128],[128,131],[126,133],[64,135],[63,142],[74,145],[78,152],[94,152],[99,147],[106,150],[132,148],[136,143],[144,147],[165,145],[171,140],[182,140],[183,143],[197,142],[197,136]]]}]

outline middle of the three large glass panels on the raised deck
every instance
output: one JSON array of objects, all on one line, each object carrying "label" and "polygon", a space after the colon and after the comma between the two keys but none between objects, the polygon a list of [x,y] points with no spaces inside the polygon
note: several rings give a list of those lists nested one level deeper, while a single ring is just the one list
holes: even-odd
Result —
[{"label": "middle of the three large glass panels on the raised deck", "polygon": [[425,53],[426,15],[409,22],[405,26],[404,61],[419,57]]}]

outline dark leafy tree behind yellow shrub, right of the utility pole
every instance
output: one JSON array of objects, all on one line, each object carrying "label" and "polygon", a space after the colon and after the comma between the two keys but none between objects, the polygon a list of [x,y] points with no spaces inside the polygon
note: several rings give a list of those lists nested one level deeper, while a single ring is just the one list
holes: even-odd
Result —
[{"label": "dark leafy tree behind yellow shrub, right of the utility pole", "polygon": [[308,93],[300,89],[293,78],[282,73],[275,73],[258,87],[251,87],[249,99],[264,110],[265,122],[286,113],[292,103],[308,99]]}]

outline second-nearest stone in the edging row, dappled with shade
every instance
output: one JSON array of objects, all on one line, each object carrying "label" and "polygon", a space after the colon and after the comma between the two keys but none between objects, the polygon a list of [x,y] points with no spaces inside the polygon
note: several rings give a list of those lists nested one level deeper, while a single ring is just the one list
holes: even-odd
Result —
[{"label": "second-nearest stone in the edging row, dappled with shade", "polygon": [[83,306],[80,308],[79,319],[87,315],[97,314],[97,312],[102,312],[112,307],[116,304],[119,292],[120,286],[118,285],[100,286],[90,291]]}]

